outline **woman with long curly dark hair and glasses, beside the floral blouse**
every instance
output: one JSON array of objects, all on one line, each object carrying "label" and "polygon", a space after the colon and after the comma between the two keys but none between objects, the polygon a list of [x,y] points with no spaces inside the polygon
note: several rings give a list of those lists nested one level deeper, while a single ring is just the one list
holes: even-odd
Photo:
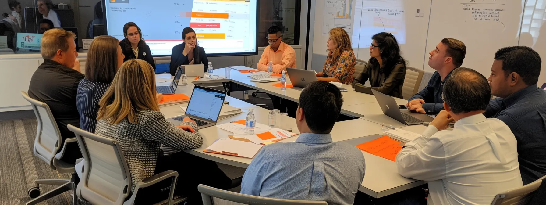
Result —
[{"label": "woman with long curly dark hair and glasses, beside the floral blouse", "polygon": [[354,79],[353,87],[364,86],[370,80],[372,89],[402,98],[406,61],[400,54],[400,47],[393,34],[381,32],[373,35],[370,56],[364,71]]}]

